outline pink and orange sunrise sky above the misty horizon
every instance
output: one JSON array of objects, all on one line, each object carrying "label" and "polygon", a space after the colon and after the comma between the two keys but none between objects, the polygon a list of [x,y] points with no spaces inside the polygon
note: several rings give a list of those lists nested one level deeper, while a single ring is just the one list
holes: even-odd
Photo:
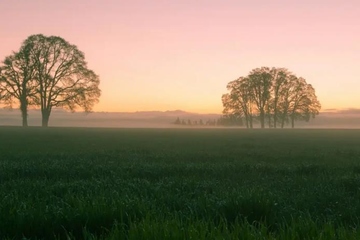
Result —
[{"label": "pink and orange sunrise sky above the misty horizon", "polygon": [[360,108],[359,0],[0,0],[0,60],[32,34],[85,53],[94,111],[221,113],[226,84],[285,67],[322,109]]}]

